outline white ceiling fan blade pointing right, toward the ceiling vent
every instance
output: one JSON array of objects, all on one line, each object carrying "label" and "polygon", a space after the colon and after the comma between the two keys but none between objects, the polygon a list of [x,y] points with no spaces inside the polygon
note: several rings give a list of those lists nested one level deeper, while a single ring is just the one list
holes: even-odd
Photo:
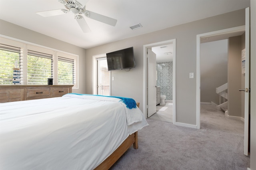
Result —
[{"label": "white ceiling fan blade pointing right, toward the ceiling vent", "polygon": [[114,18],[110,18],[108,16],[97,14],[95,12],[91,12],[91,11],[88,11],[88,10],[85,10],[85,14],[84,15],[86,17],[88,17],[88,18],[92,18],[93,20],[97,20],[99,22],[103,22],[103,23],[108,24],[110,26],[116,26],[117,20],[114,19]]}]

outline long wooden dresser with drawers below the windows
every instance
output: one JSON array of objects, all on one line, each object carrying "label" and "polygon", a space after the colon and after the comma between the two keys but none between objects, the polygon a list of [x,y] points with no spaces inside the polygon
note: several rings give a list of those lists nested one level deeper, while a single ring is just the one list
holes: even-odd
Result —
[{"label": "long wooden dresser with drawers below the windows", "polygon": [[0,85],[0,103],[60,97],[72,93],[73,85]]}]

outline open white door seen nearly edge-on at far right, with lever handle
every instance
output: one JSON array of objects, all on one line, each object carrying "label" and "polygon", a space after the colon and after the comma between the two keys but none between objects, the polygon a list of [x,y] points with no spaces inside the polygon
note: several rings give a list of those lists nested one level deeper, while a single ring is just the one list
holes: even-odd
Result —
[{"label": "open white door seen nearly edge-on at far right, with lever handle", "polygon": [[248,156],[250,93],[250,8],[245,10],[244,154]]}]

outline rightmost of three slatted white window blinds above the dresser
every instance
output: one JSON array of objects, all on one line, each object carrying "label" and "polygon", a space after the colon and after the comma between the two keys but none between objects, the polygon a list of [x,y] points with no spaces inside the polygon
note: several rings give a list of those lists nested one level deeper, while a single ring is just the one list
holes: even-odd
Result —
[{"label": "rightmost of three slatted white window blinds above the dresser", "polygon": [[74,59],[58,57],[58,84],[74,85],[76,82],[76,61]]}]

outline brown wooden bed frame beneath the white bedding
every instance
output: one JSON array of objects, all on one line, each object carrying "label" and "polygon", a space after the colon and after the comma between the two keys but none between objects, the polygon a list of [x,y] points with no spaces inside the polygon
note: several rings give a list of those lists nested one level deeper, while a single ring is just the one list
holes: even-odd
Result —
[{"label": "brown wooden bed frame beneath the white bedding", "polygon": [[[136,103],[136,105],[140,107],[140,103]],[[138,149],[138,131],[130,134],[126,140],[94,170],[108,170],[132,144],[134,149]]]}]

